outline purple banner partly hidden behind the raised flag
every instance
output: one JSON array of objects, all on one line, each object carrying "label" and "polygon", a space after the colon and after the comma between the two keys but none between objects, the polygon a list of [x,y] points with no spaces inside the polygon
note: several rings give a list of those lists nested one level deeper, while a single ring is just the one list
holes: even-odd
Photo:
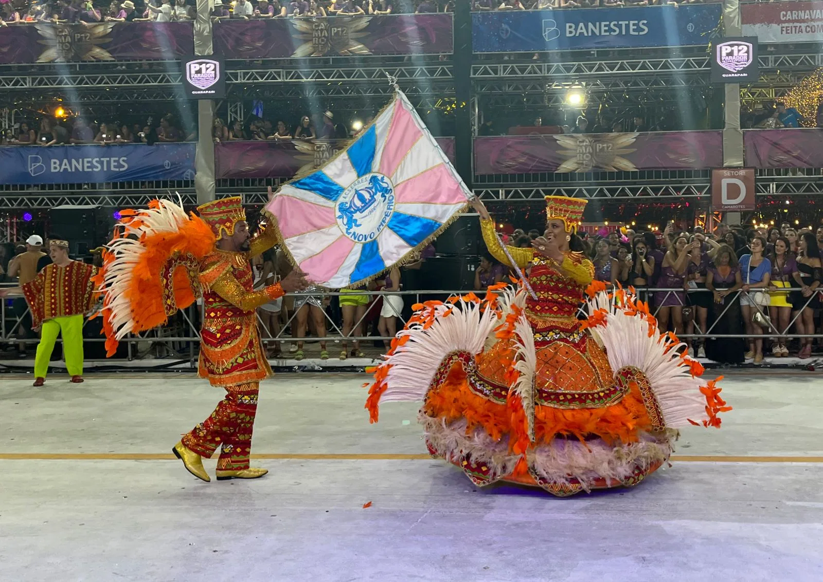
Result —
[{"label": "purple banner partly hidden behind the raised flag", "polygon": [[[215,178],[291,178],[328,162],[349,140],[230,141],[216,144]],[[454,138],[437,143],[454,162]]]}]

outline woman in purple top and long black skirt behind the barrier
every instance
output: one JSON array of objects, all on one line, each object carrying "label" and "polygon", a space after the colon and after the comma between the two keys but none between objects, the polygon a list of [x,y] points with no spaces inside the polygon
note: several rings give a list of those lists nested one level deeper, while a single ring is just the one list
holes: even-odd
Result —
[{"label": "woman in purple top and long black skirt behind the barrier", "polygon": [[714,262],[706,271],[706,289],[712,293],[709,310],[709,337],[706,339],[706,357],[718,363],[743,363],[746,342],[742,338],[714,337],[742,335],[743,321],[737,289],[743,286],[737,256],[732,247],[718,248]]}]

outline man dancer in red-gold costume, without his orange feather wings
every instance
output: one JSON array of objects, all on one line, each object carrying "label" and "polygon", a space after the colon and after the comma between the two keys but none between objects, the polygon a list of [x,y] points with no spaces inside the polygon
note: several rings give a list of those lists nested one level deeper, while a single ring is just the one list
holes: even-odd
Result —
[{"label": "man dancer in red-gold costume, without his orange feather wings", "polygon": [[212,386],[225,388],[226,398],[209,418],[184,435],[173,451],[186,469],[203,481],[210,479],[201,457],[211,458],[218,446],[218,480],[258,478],[268,473],[267,469],[249,467],[259,383],[272,374],[260,345],[255,310],[306,284],[304,274],[293,270],[281,283],[253,291],[249,259],[277,244],[277,230],[270,224],[258,237],[250,238],[240,201],[238,196],[198,207],[200,217],[218,239],[215,251],[200,266],[203,322],[199,375],[208,378]]}]

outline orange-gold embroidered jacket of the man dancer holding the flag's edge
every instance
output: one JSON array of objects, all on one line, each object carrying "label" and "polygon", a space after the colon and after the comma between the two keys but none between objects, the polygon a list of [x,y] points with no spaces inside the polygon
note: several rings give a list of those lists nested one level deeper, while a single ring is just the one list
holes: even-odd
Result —
[{"label": "orange-gold embroidered jacket of the man dancer holding the flag's edge", "polygon": [[280,284],[253,291],[249,259],[277,243],[277,231],[267,228],[252,239],[248,252],[216,250],[200,266],[203,323],[199,376],[212,386],[260,381],[272,374],[260,345],[255,309],[281,297]]}]

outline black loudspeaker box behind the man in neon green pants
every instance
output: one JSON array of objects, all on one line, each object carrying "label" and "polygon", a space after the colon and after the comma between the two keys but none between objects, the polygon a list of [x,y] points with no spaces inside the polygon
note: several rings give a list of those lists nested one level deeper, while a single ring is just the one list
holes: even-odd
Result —
[{"label": "black loudspeaker box behind the man in neon green pants", "polygon": [[114,212],[104,206],[55,206],[49,210],[46,238],[58,234],[67,238],[69,255],[89,256],[92,249],[109,242]]}]

